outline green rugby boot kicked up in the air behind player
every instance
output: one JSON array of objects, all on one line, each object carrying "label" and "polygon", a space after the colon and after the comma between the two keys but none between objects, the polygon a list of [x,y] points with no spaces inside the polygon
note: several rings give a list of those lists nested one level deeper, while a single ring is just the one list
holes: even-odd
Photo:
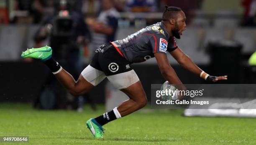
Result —
[{"label": "green rugby boot kicked up in the air behind player", "polygon": [[21,53],[21,57],[33,58],[33,59],[39,59],[41,61],[46,61],[51,58],[51,54],[52,54],[51,47],[46,45],[41,48],[27,49],[25,52]]}]

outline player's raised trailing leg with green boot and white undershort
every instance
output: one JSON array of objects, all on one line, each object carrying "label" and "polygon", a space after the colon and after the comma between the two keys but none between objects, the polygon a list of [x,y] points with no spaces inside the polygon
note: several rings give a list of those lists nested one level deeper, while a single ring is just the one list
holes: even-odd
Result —
[{"label": "player's raised trailing leg with green boot and white undershort", "polygon": [[[104,74],[102,71],[94,69],[89,65],[84,69],[82,74],[79,76],[79,79],[75,81],[73,76],[65,71],[59,63],[51,57],[51,55],[52,49],[49,46],[28,49],[21,54],[23,58],[33,58],[43,61],[61,84],[63,84],[66,89],[75,96],[84,94],[105,78],[105,76],[102,75]],[[95,81],[97,83],[95,83]]]}]

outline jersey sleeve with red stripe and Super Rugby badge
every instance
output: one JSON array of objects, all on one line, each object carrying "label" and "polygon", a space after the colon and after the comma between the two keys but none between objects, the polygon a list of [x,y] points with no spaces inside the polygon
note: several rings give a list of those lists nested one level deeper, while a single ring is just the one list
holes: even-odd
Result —
[{"label": "jersey sleeve with red stripe and Super Rugby badge", "polygon": [[167,53],[168,41],[163,34],[152,34],[149,39],[153,53]]}]

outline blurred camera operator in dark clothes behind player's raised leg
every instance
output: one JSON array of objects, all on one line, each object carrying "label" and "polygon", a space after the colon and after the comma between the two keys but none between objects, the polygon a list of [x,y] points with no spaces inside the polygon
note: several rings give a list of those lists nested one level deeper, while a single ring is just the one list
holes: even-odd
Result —
[{"label": "blurred camera operator in dark clothes behind player's raised leg", "polygon": [[[84,65],[80,58],[80,48],[83,48],[84,54],[86,54],[91,35],[82,15],[71,8],[73,7],[67,0],[60,0],[59,3],[55,3],[56,12],[42,22],[34,41],[35,47],[42,47],[43,41],[50,36],[50,46],[56,48],[53,53],[54,57],[58,58],[71,74],[78,77]],[[73,97],[71,94],[67,94],[61,84],[52,79],[52,75],[50,76],[49,88],[57,98],[54,108],[82,111],[83,97]],[[91,102],[90,97],[86,96],[85,98]],[[92,102],[91,104],[92,108],[95,109],[95,105]]]}]

